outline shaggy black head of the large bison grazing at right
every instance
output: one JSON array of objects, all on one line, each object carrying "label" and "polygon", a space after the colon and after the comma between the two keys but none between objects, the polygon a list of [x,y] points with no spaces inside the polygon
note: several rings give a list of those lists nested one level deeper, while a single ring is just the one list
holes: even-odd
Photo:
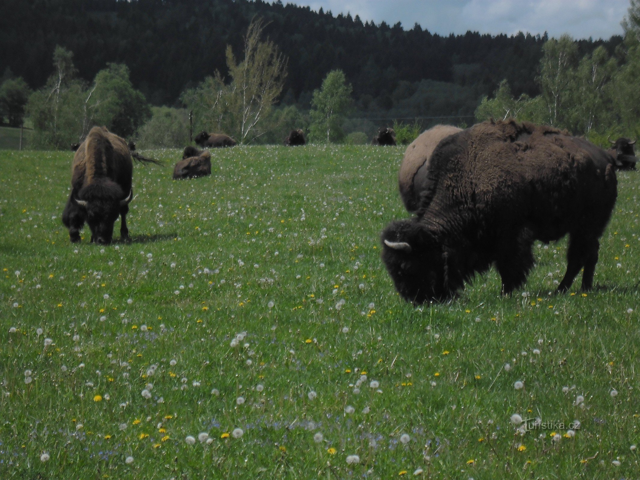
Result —
[{"label": "shaggy black head of the large bison grazing at right", "polygon": [[394,221],[382,232],[382,260],[406,301],[444,301],[463,286],[454,250],[417,220]]}]

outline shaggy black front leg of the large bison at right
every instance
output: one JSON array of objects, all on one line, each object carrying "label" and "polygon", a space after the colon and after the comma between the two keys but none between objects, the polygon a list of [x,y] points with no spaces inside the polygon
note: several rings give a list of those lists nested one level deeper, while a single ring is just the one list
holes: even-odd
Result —
[{"label": "shaggy black front leg of the large bison at right", "polygon": [[506,236],[499,245],[495,268],[502,278],[502,294],[510,294],[527,280],[534,263],[532,244],[531,232],[524,229],[516,236]]}]

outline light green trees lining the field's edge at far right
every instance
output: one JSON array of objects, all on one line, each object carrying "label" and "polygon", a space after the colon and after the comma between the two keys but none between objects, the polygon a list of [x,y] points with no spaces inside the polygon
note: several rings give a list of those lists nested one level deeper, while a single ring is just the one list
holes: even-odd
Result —
[{"label": "light green trees lining the field's edge at far right", "polygon": [[[637,12],[636,12],[637,10]],[[529,120],[567,129],[605,145],[609,136],[640,136],[640,3],[632,6],[623,22],[625,42],[614,54],[600,46],[580,56],[570,36],[543,45],[536,81],[540,94],[513,95],[504,79],[489,99],[484,97],[476,119]]]}]

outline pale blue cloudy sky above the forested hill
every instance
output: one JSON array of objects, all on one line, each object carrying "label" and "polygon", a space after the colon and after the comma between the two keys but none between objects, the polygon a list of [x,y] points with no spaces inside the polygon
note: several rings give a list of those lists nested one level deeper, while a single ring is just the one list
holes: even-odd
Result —
[{"label": "pale blue cloudy sky above the forested hill", "polygon": [[418,22],[431,33],[449,35],[467,30],[480,33],[518,31],[533,35],[573,38],[609,38],[623,33],[620,22],[627,14],[629,0],[283,0],[323,7],[333,15],[351,13],[352,17],[374,20],[379,24],[402,22],[405,29]]}]

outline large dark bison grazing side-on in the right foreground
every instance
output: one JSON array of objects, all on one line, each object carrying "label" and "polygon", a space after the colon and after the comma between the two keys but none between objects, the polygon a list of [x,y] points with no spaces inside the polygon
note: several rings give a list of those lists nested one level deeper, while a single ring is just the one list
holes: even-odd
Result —
[{"label": "large dark bison grazing side-on in the right foreground", "polygon": [[382,258],[401,296],[442,301],[495,264],[502,292],[522,285],[532,243],[569,234],[568,290],[593,284],[598,239],[616,202],[611,155],[583,138],[529,123],[484,122],[440,141],[417,217],[382,233]]}]

